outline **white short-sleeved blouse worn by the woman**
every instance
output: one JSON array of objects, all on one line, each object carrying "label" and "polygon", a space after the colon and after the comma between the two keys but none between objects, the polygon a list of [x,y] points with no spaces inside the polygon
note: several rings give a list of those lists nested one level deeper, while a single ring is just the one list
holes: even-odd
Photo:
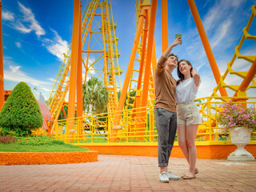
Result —
[{"label": "white short-sleeved blouse worn by the woman", "polygon": [[177,103],[194,101],[200,84],[201,79],[198,86],[196,86],[194,83],[194,78],[189,78],[184,82],[179,82],[174,93],[175,101]]}]

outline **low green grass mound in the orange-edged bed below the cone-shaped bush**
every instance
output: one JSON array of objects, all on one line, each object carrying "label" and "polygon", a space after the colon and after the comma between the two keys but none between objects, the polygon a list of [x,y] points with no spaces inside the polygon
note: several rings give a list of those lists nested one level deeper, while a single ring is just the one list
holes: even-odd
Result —
[{"label": "low green grass mound in the orange-edged bed below the cone-shaped bush", "polygon": [[63,141],[47,137],[16,138],[17,142],[0,143],[0,152],[72,152],[89,151],[84,147],[73,146]]}]

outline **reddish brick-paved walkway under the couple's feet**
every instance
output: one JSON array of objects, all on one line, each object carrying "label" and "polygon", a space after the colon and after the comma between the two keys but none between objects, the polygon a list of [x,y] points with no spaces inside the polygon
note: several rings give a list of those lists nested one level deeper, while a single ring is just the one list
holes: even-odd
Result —
[{"label": "reddish brick-paved walkway under the couple's feet", "polygon": [[[184,158],[170,170],[186,172]],[[0,191],[256,191],[256,162],[198,159],[197,178],[158,181],[157,158],[98,155],[98,162],[0,166]]]}]

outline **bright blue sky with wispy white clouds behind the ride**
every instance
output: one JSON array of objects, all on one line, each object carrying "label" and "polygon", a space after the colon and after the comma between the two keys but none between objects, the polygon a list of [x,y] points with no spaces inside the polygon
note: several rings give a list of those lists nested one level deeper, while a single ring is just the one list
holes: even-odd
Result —
[{"label": "bright blue sky with wispy white clouds behind the ride", "polygon": [[[85,6],[86,0],[82,0]],[[118,50],[121,53],[119,65],[125,78],[126,68],[136,32],[135,0],[112,0],[114,22],[117,23]],[[254,0],[195,0],[198,12],[205,27],[210,46],[223,74],[227,62],[234,54],[234,47],[242,37],[251,14]],[[26,82],[36,87],[47,98],[62,64],[72,38],[73,0],[2,0],[2,38],[5,90],[12,90],[18,82]],[[162,54],[161,40],[161,1],[155,26],[157,58]],[[186,0],[168,1],[169,44],[175,34],[182,34],[182,46],[173,52],[179,58],[190,60],[201,74],[202,84],[198,97],[210,96],[216,86],[210,64],[206,58],[198,30]],[[256,21],[250,27],[250,34],[256,34]],[[240,51],[255,55],[256,43],[246,40]],[[250,63],[238,60],[234,70],[249,70]],[[177,78],[174,70],[174,78]],[[226,83],[239,85],[242,79],[230,75]],[[232,91],[229,92],[230,96]],[[255,95],[249,91],[248,96]]]}]

